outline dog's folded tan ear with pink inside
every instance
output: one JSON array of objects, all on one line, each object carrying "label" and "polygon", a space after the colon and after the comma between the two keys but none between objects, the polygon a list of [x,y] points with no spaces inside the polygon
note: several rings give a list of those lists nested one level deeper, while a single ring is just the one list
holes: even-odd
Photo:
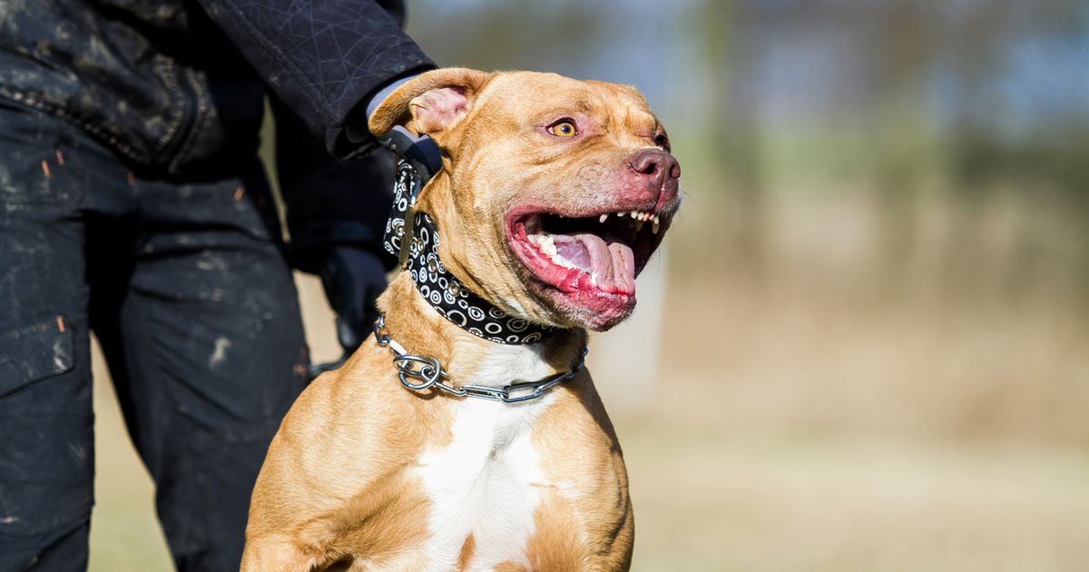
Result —
[{"label": "dog's folded tan ear with pink inside", "polygon": [[381,135],[404,125],[427,134],[442,148],[456,145],[455,133],[491,74],[465,68],[425,72],[396,88],[370,118],[370,132]]}]

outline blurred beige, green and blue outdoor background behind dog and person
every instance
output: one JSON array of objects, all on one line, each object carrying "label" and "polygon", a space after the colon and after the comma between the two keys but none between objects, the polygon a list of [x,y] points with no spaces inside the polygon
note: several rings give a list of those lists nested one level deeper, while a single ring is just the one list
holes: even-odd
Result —
[{"label": "blurred beige, green and blue outdoor background behind dog and person", "polygon": [[[670,131],[685,205],[591,350],[635,570],[1087,569],[1089,3],[414,0],[408,29],[635,85]],[[169,570],[96,384],[91,570]]]}]

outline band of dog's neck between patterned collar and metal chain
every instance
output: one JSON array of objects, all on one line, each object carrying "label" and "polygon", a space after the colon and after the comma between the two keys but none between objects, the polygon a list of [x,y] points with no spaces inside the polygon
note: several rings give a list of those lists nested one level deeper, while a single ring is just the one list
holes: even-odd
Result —
[{"label": "band of dog's neck between patterned collar and metal chain", "polygon": [[451,384],[502,387],[536,381],[575,367],[586,331],[573,328],[536,343],[500,344],[479,338],[440,315],[420,294],[408,271],[394,278],[378,301],[389,337],[417,355],[439,360]]}]

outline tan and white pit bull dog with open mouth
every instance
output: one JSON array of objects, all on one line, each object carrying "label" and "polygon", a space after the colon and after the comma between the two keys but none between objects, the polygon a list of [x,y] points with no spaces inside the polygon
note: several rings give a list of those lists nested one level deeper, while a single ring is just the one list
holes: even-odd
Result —
[{"label": "tan and white pit bull dog with open mouth", "polygon": [[628,86],[440,69],[370,121],[396,125],[442,151],[413,255],[376,336],[283,419],[242,569],[627,570],[627,474],[582,356],[680,206],[662,124]]}]

